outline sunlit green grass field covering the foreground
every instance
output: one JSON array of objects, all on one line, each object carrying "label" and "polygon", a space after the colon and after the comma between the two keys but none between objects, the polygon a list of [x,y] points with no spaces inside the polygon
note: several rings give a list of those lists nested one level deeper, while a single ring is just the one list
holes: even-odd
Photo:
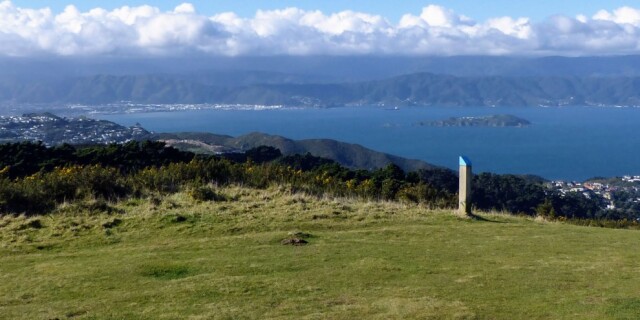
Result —
[{"label": "sunlit green grass field covering the foreground", "polygon": [[[0,219],[0,318],[635,319],[640,233],[221,190]],[[305,246],[282,245],[292,233]]]}]

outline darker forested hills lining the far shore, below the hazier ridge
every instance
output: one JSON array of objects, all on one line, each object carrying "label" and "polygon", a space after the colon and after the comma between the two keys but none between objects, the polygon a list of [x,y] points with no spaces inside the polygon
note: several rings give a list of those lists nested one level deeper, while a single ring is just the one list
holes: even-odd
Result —
[{"label": "darker forested hills lining the far shore, below the hazier ridge", "polygon": [[[66,80],[0,79],[0,102],[220,103],[286,106],[636,106],[640,77],[451,76],[415,73],[351,83],[282,82],[269,74],[251,84],[178,75],[98,75]],[[221,76],[222,77],[222,76]],[[278,77],[282,77],[279,75]]]}]

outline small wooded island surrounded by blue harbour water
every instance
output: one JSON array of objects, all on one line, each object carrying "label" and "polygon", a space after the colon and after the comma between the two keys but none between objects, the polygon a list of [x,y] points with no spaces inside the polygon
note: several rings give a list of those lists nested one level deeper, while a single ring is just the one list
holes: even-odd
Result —
[{"label": "small wooded island surrounded by blue harbour water", "polygon": [[526,119],[510,114],[498,114],[482,117],[451,117],[444,120],[419,122],[421,126],[432,127],[525,127],[530,125]]}]

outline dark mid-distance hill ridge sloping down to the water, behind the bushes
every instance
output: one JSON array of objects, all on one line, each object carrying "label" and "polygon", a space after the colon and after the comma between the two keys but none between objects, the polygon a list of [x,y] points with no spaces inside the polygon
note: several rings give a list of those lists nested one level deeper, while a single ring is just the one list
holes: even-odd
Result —
[{"label": "dark mid-distance hill ridge sloping down to the water, behind the bushes", "polygon": [[378,169],[393,163],[407,172],[434,169],[437,166],[420,160],[406,159],[365,148],[358,144],[331,139],[292,140],[264,133],[250,133],[239,137],[202,132],[157,133],[152,140],[163,140],[183,150],[195,152],[239,152],[259,146],[279,149],[284,155],[310,153],[316,157],[331,159],[354,169]]}]

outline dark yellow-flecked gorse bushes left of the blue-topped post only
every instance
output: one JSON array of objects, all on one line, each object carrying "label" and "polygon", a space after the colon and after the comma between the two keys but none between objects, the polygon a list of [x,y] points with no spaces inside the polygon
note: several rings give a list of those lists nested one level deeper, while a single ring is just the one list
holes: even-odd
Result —
[{"label": "dark yellow-flecked gorse bushes left of the blue-topped post only", "polygon": [[309,154],[282,157],[270,147],[229,158],[196,157],[157,142],[77,150],[30,143],[4,148],[18,154],[1,157],[0,213],[35,215],[78,200],[117,202],[181,191],[197,201],[220,201],[224,197],[212,186],[230,184],[285,186],[317,196],[402,199],[438,206],[455,203],[455,194],[409,181],[395,165],[372,172],[350,170]]}]

